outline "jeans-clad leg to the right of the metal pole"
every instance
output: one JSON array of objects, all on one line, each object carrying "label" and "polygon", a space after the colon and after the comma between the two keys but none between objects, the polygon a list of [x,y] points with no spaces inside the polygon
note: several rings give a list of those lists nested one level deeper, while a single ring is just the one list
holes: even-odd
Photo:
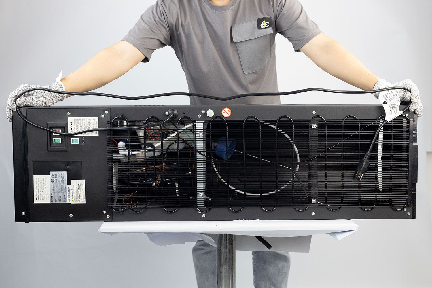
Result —
[{"label": "jeans-clad leg to the right of the metal pole", "polygon": [[253,251],[255,288],[286,288],[291,258],[288,252]]}]

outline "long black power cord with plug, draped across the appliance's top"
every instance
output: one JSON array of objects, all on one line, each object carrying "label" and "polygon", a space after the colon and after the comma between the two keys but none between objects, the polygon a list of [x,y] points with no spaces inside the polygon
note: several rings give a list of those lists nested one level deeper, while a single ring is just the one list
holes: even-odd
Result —
[{"label": "long black power cord with plug, draped across the appliance's top", "polygon": [[[253,97],[253,96],[283,96],[283,95],[294,95],[294,94],[311,92],[311,91],[320,91],[320,92],[337,93],[337,94],[369,94],[369,93],[377,93],[377,92],[384,92],[384,91],[397,90],[397,89],[411,92],[411,90],[408,89],[407,87],[395,86],[395,87],[387,87],[387,88],[368,90],[368,91],[307,88],[307,89],[300,89],[300,90],[294,90],[294,91],[288,91],[288,92],[246,93],[246,94],[239,94],[239,95],[234,95],[234,96],[226,97],[226,98],[215,97],[215,96],[210,96],[210,95],[203,95],[203,94],[196,94],[196,93],[188,93],[188,92],[161,93],[161,94],[144,95],[144,96],[138,96],[138,97],[129,97],[129,96],[114,95],[114,94],[106,94],[106,93],[96,93],[96,92],[86,92],[86,93],[66,92],[66,91],[57,91],[57,90],[47,89],[47,88],[43,88],[43,87],[35,87],[35,88],[31,88],[31,89],[28,89],[28,90],[21,92],[17,96],[17,98],[15,99],[15,104],[16,104],[16,100],[18,100],[20,97],[22,97],[25,93],[28,93],[31,91],[37,91],[37,90],[52,92],[52,93],[56,93],[56,94],[103,96],[103,97],[108,97],[108,98],[117,98],[117,99],[125,99],[125,100],[142,100],[142,99],[150,99],[150,98],[157,98],[157,97],[163,97],[163,96],[184,95],[184,96],[206,98],[206,99],[211,99],[211,100],[229,101],[229,100],[234,100],[234,99],[238,99],[238,98]],[[407,107],[403,110],[403,112],[407,111],[409,107],[410,107],[410,105],[407,105]],[[22,120],[24,120],[26,123],[29,123],[30,125],[37,127],[39,129],[42,129],[42,130],[45,130],[48,132],[52,132],[52,133],[57,133],[57,134],[60,134],[63,136],[74,136],[74,135],[78,135],[78,134],[82,134],[82,133],[86,133],[86,132],[93,132],[93,131],[134,130],[134,129],[142,129],[142,128],[147,128],[147,127],[156,127],[156,126],[162,125],[163,123],[171,120],[172,118],[177,117],[177,115],[176,115],[177,111],[175,111],[175,109],[170,109],[170,111],[168,111],[168,118],[166,118],[165,120],[162,120],[160,122],[157,122],[157,123],[152,123],[152,124],[142,125],[142,126],[131,126],[131,127],[95,128],[95,129],[88,129],[88,130],[83,130],[83,131],[79,131],[79,132],[75,132],[75,133],[63,133],[63,132],[51,130],[47,127],[43,127],[41,125],[38,125],[37,123],[30,121],[29,119],[27,119],[27,117],[25,117],[22,114],[22,112],[20,111],[18,106],[17,106],[16,111],[19,114],[19,116],[22,118]],[[364,174],[368,170],[368,166],[369,166],[368,159],[370,157],[370,153],[372,151],[372,148],[375,144],[376,139],[378,138],[378,135],[379,135],[382,127],[384,127],[384,125],[386,123],[388,123],[388,121],[384,120],[383,123],[381,123],[381,125],[378,127],[378,130],[375,133],[375,136],[371,142],[371,145],[369,146],[368,152],[366,152],[365,156],[362,158],[362,161],[360,161],[359,165],[357,166],[356,178],[359,180],[362,180]]]}]

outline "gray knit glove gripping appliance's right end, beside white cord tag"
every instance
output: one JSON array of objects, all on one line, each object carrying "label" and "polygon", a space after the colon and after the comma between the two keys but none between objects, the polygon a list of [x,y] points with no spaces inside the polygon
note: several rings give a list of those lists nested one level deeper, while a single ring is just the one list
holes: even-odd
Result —
[{"label": "gray knit glove gripping appliance's right end, beside white cord tag", "polygon": [[[401,87],[407,87],[411,90],[411,93],[405,90],[396,89],[394,92],[396,92],[397,95],[399,95],[401,101],[410,101],[410,112],[415,112],[419,117],[422,116],[422,110],[423,110],[423,104],[420,100],[420,94],[419,89],[417,88],[417,85],[414,84],[413,81],[410,79],[403,80],[400,82],[396,82],[394,84],[388,83],[384,79],[379,79],[378,82],[375,83],[374,90],[375,89],[382,89],[387,87],[394,87],[394,86],[401,86]],[[379,93],[374,93],[375,98],[378,99]]]}]

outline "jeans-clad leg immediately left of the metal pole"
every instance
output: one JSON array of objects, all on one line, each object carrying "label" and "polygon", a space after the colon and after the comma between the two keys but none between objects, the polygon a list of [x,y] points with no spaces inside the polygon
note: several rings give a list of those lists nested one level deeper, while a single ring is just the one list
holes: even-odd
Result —
[{"label": "jeans-clad leg immediately left of the metal pole", "polygon": [[216,247],[198,241],[192,248],[198,288],[216,288]]}]

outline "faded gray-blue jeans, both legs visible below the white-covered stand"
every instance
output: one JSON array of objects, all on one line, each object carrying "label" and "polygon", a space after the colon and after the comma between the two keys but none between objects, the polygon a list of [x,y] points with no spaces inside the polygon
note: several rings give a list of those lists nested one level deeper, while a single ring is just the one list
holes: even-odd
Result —
[{"label": "faded gray-blue jeans, both legs visible below the white-covered stand", "polygon": [[[216,288],[216,247],[198,241],[192,248],[198,288]],[[286,288],[291,259],[288,252],[253,251],[255,288]]]}]

